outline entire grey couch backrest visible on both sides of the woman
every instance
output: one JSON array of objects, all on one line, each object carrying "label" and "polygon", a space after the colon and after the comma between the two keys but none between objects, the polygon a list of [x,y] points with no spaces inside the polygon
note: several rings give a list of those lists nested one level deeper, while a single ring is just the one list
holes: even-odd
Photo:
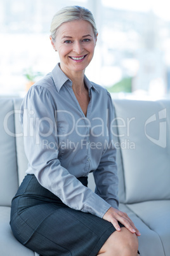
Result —
[{"label": "entire grey couch backrest visible on both sides of the woman", "polygon": [[[0,205],[10,206],[25,176],[19,111],[22,99],[0,99]],[[119,200],[170,199],[170,101],[114,100]]]}]

